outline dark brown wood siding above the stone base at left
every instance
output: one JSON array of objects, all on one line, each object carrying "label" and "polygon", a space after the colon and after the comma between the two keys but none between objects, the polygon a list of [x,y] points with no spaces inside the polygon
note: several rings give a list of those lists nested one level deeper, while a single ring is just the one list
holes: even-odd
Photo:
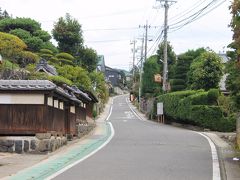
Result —
[{"label": "dark brown wood siding above the stone base at left", "polygon": [[64,111],[46,105],[0,105],[0,134],[65,134]]}]

